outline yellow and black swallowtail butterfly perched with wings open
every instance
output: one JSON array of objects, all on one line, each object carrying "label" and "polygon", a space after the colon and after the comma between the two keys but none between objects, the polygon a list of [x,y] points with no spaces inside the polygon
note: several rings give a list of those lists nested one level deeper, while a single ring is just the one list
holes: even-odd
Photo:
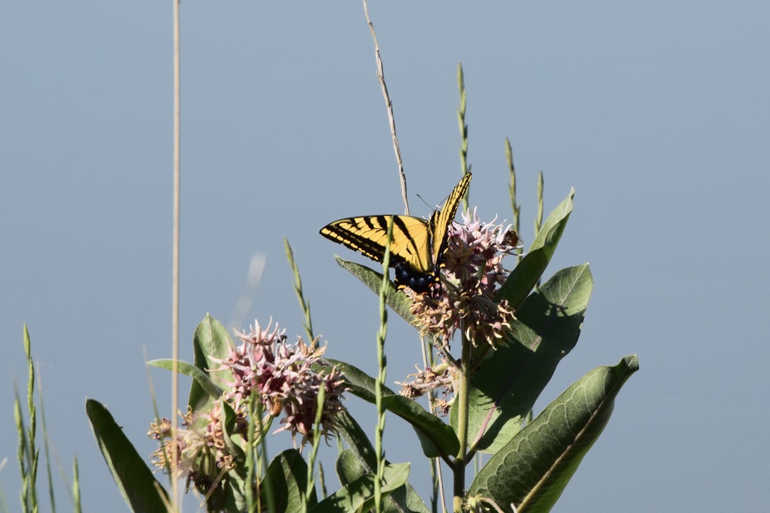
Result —
[{"label": "yellow and black swallowtail butterfly perched with wings open", "polygon": [[387,228],[393,220],[393,238],[390,241],[390,266],[395,268],[398,288],[409,287],[425,293],[438,281],[444,252],[449,240],[449,228],[457,207],[470,184],[470,174],[447,198],[444,208],[437,210],[427,221],[408,215],[363,215],[343,218],[321,228],[321,235],[360,252],[372,260],[382,262],[387,247]]}]

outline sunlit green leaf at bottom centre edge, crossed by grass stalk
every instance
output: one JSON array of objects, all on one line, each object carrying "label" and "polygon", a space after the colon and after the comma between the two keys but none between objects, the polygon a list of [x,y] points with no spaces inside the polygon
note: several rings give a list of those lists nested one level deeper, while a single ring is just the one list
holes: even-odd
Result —
[{"label": "sunlit green leaf at bottom centre edge, crossed by grass stalk", "polygon": [[[409,478],[408,463],[385,465],[383,495],[389,495],[400,488]],[[373,474],[366,474],[344,485],[340,490],[320,501],[310,513],[350,513],[350,511],[368,511],[374,507]]]}]

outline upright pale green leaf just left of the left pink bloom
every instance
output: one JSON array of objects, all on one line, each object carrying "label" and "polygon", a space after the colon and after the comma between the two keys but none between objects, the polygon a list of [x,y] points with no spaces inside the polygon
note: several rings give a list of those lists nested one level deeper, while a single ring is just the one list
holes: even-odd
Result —
[{"label": "upright pale green leaf just left of the left pink bloom", "polygon": [[[219,385],[219,388],[227,388],[227,385],[223,378],[219,378],[217,375],[212,377],[209,374],[212,368],[219,367],[219,364],[212,361],[211,358],[219,358],[220,360],[227,358],[232,347],[233,342],[230,341],[227,330],[222,323],[206,314],[192,335],[192,351],[195,354],[195,366],[216,385]],[[211,396],[199,384],[198,380],[192,381],[187,404],[192,411],[209,411],[213,406]]]}]

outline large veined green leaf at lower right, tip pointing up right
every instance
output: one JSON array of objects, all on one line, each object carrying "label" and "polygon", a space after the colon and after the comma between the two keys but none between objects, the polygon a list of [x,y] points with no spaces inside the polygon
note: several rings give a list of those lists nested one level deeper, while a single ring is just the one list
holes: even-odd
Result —
[{"label": "large veined green leaf at lower right, tip pointing up right", "polygon": [[567,388],[490,458],[468,493],[518,513],[550,511],[607,425],[614,398],[639,368],[636,355],[599,367]]}]

